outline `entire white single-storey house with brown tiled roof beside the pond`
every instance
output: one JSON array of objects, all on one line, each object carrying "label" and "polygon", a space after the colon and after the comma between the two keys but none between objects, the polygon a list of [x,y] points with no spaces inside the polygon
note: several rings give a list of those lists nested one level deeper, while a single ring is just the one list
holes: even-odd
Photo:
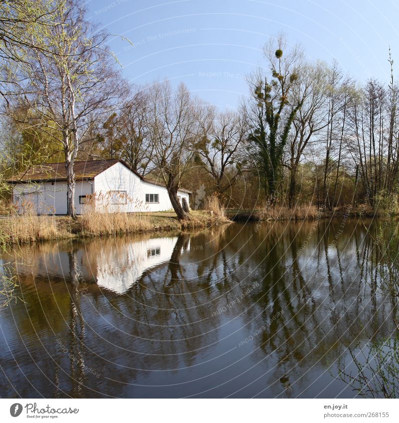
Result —
[{"label": "entire white single-storey house with brown tiled roof beside the pond", "polygon": [[[168,191],[161,182],[147,179],[119,159],[77,161],[74,165],[75,208],[96,211],[145,212],[171,210]],[[67,212],[65,163],[40,164],[8,180],[13,184],[13,202],[21,212],[29,205],[39,214]],[[181,188],[187,201],[191,191]]]}]

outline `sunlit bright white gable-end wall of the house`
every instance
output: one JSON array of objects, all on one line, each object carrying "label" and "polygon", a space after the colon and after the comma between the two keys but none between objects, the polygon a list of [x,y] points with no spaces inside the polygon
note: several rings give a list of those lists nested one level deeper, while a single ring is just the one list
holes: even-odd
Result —
[{"label": "sunlit bright white gable-end wall of the house", "polygon": [[[109,197],[106,199],[109,211],[137,212],[137,211],[165,211],[171,210],[172,203],[165,187],[142,181],[136,174],[131,172],[122,163],[115,163],[94,178],[96,197],[106,194],[109,191],[126,191],[127,204],[109,204]],[[146,194],[158,194],[159,203],[146,203]],[[185,197],[189,203],[189,194],[179,191],[178,195]],[[97,202],[98,208],[102,206]]]}]

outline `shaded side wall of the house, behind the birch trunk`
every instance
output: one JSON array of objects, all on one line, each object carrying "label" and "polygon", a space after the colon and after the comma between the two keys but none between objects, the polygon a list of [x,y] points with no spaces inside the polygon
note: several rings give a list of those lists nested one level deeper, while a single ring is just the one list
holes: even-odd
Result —
[{"label": "shaded side wall of the house, behind the birch trunk", "polygon": [[[90,182],[76,181],[75,207],[78,214],[82,211],[79,196],[90,195],[94,192],[94,180]],[[65,182],[18,183],[13,187],[13,196],[14,204],[18,207],[19,213],[23,212],[22,203],[25,205],[29,203],[39,214],[66,214]]]}]

